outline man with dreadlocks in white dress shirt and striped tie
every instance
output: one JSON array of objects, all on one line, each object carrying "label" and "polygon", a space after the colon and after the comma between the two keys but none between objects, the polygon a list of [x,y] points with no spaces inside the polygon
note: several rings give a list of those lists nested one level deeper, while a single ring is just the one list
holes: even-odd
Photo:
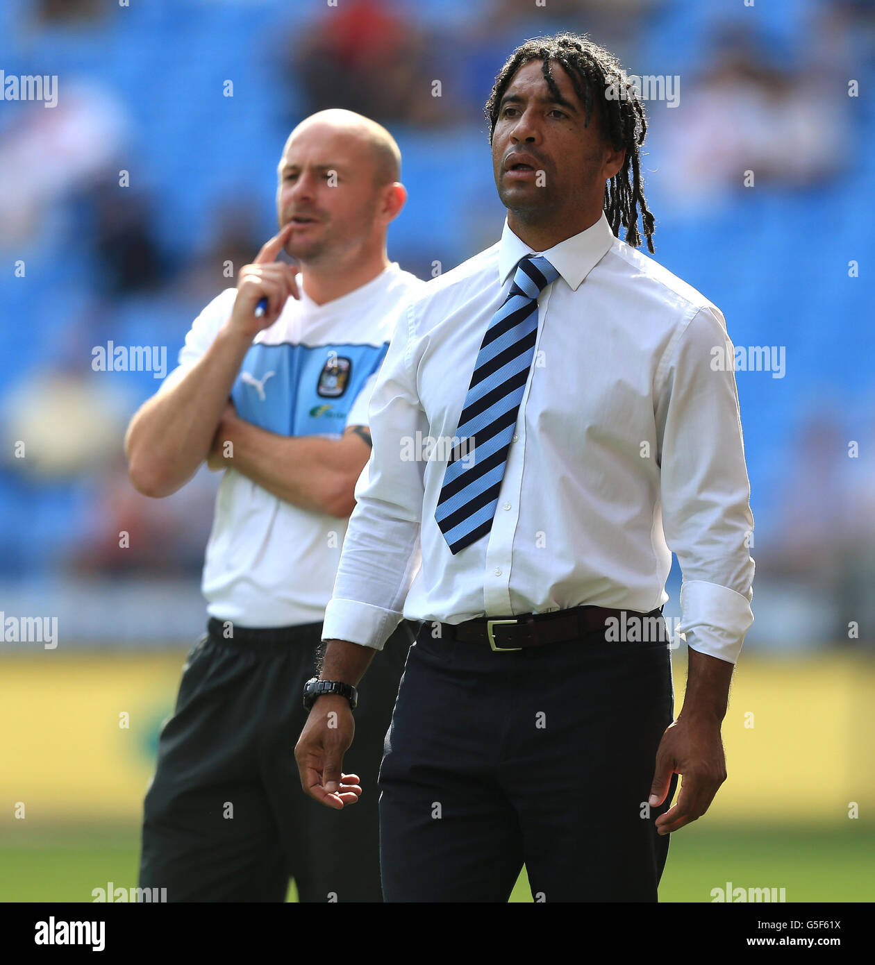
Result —
[{"label": "man with dreadlocks in white dress shirt and striped tie", "polygon": [[[386,900],[505,901],[524,863],[536,900],[655,901],[669,833],[725,779],[752,620],[735,379],[710,364],[731,343],[637,250],[644,112],[607,51],[527,41],[486,111],[507,220],[398,319],[322,677],[352,689],[402,616],[421,621],[380,772]],[[350,703],[319,698],[296,758],[334,807],[352,738]]]}]

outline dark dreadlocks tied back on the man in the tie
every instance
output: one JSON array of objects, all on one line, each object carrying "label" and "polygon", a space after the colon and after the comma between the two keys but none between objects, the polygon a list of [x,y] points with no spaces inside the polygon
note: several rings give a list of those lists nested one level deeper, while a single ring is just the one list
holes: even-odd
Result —
[{"label": "dark dreadlocks tied back on the man in the tie", "polygon": [[653,253],[654,221],[644,198],[638,155],[638,149],[644,144],[647,134],[644,107],[616,57],[604,47],[590,41],[585,34],[560,33],[551,37],[536,37],[522,43],[510,55],[495,77],[492,94],[484,108],[490,125],[490,144],[493,143],[495,123],[498,120],[498,105],[511,78],[523,64],[533,60],[543,61],[544,79],[554,97],[559,96],[559,89],[553,79],[550,61],[565,70],[574,85],[575,93],[584,105],[585,125],[589,124],[596,107],[595,94],[603,93],[597,111],[602,133],[614,151],[626,150],[623,167],[605,185],[604,207],[607,221],[617,237],[620,236],[620,227],[625,228],[626,242],[637,248],[641,243],[641,236],[638,234],[640,209],[647,249]]}]

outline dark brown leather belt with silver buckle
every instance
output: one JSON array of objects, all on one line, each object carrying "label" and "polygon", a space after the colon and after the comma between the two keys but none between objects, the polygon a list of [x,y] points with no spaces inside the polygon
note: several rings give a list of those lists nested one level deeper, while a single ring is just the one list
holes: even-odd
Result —
[{"label": "dark brown leather belt with silver buckle", "polygon": [[579,640],[586,633],[604,630],[607,620],[627,625],[635,618],[662,617],[663,608],[650,613],[609,610],[602,606],[579,606],[551,613],[526,613],[519,617],[494,619],[478,617],[464,623],[441,623],[440,635],[466,644],[487,644],[494,650],[521,650]]}]

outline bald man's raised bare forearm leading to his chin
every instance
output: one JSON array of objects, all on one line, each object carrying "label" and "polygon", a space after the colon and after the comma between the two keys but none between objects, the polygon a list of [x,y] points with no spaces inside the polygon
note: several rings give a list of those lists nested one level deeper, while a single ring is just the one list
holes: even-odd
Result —
[{"label": "bald man's raised bare forearm leading to his chin", "polygon": [[251,339],[230,326],[180,382],[148,400],[127,429],[130,480],[147,496],[169,496],[197,471],[231,395]]}]

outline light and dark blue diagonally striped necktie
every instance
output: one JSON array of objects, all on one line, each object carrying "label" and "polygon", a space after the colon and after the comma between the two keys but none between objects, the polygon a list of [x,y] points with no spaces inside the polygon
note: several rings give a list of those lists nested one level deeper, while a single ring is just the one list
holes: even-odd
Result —
[{"label": "light and dark blue diagonally striped necktie", "polygon": [[522,258],[510,293],[483,336],[455,432],[459,442],[450,454],[435,510],[454,556],[492,528],[535,354],[538,295],[558,274],[546,258]]}]

